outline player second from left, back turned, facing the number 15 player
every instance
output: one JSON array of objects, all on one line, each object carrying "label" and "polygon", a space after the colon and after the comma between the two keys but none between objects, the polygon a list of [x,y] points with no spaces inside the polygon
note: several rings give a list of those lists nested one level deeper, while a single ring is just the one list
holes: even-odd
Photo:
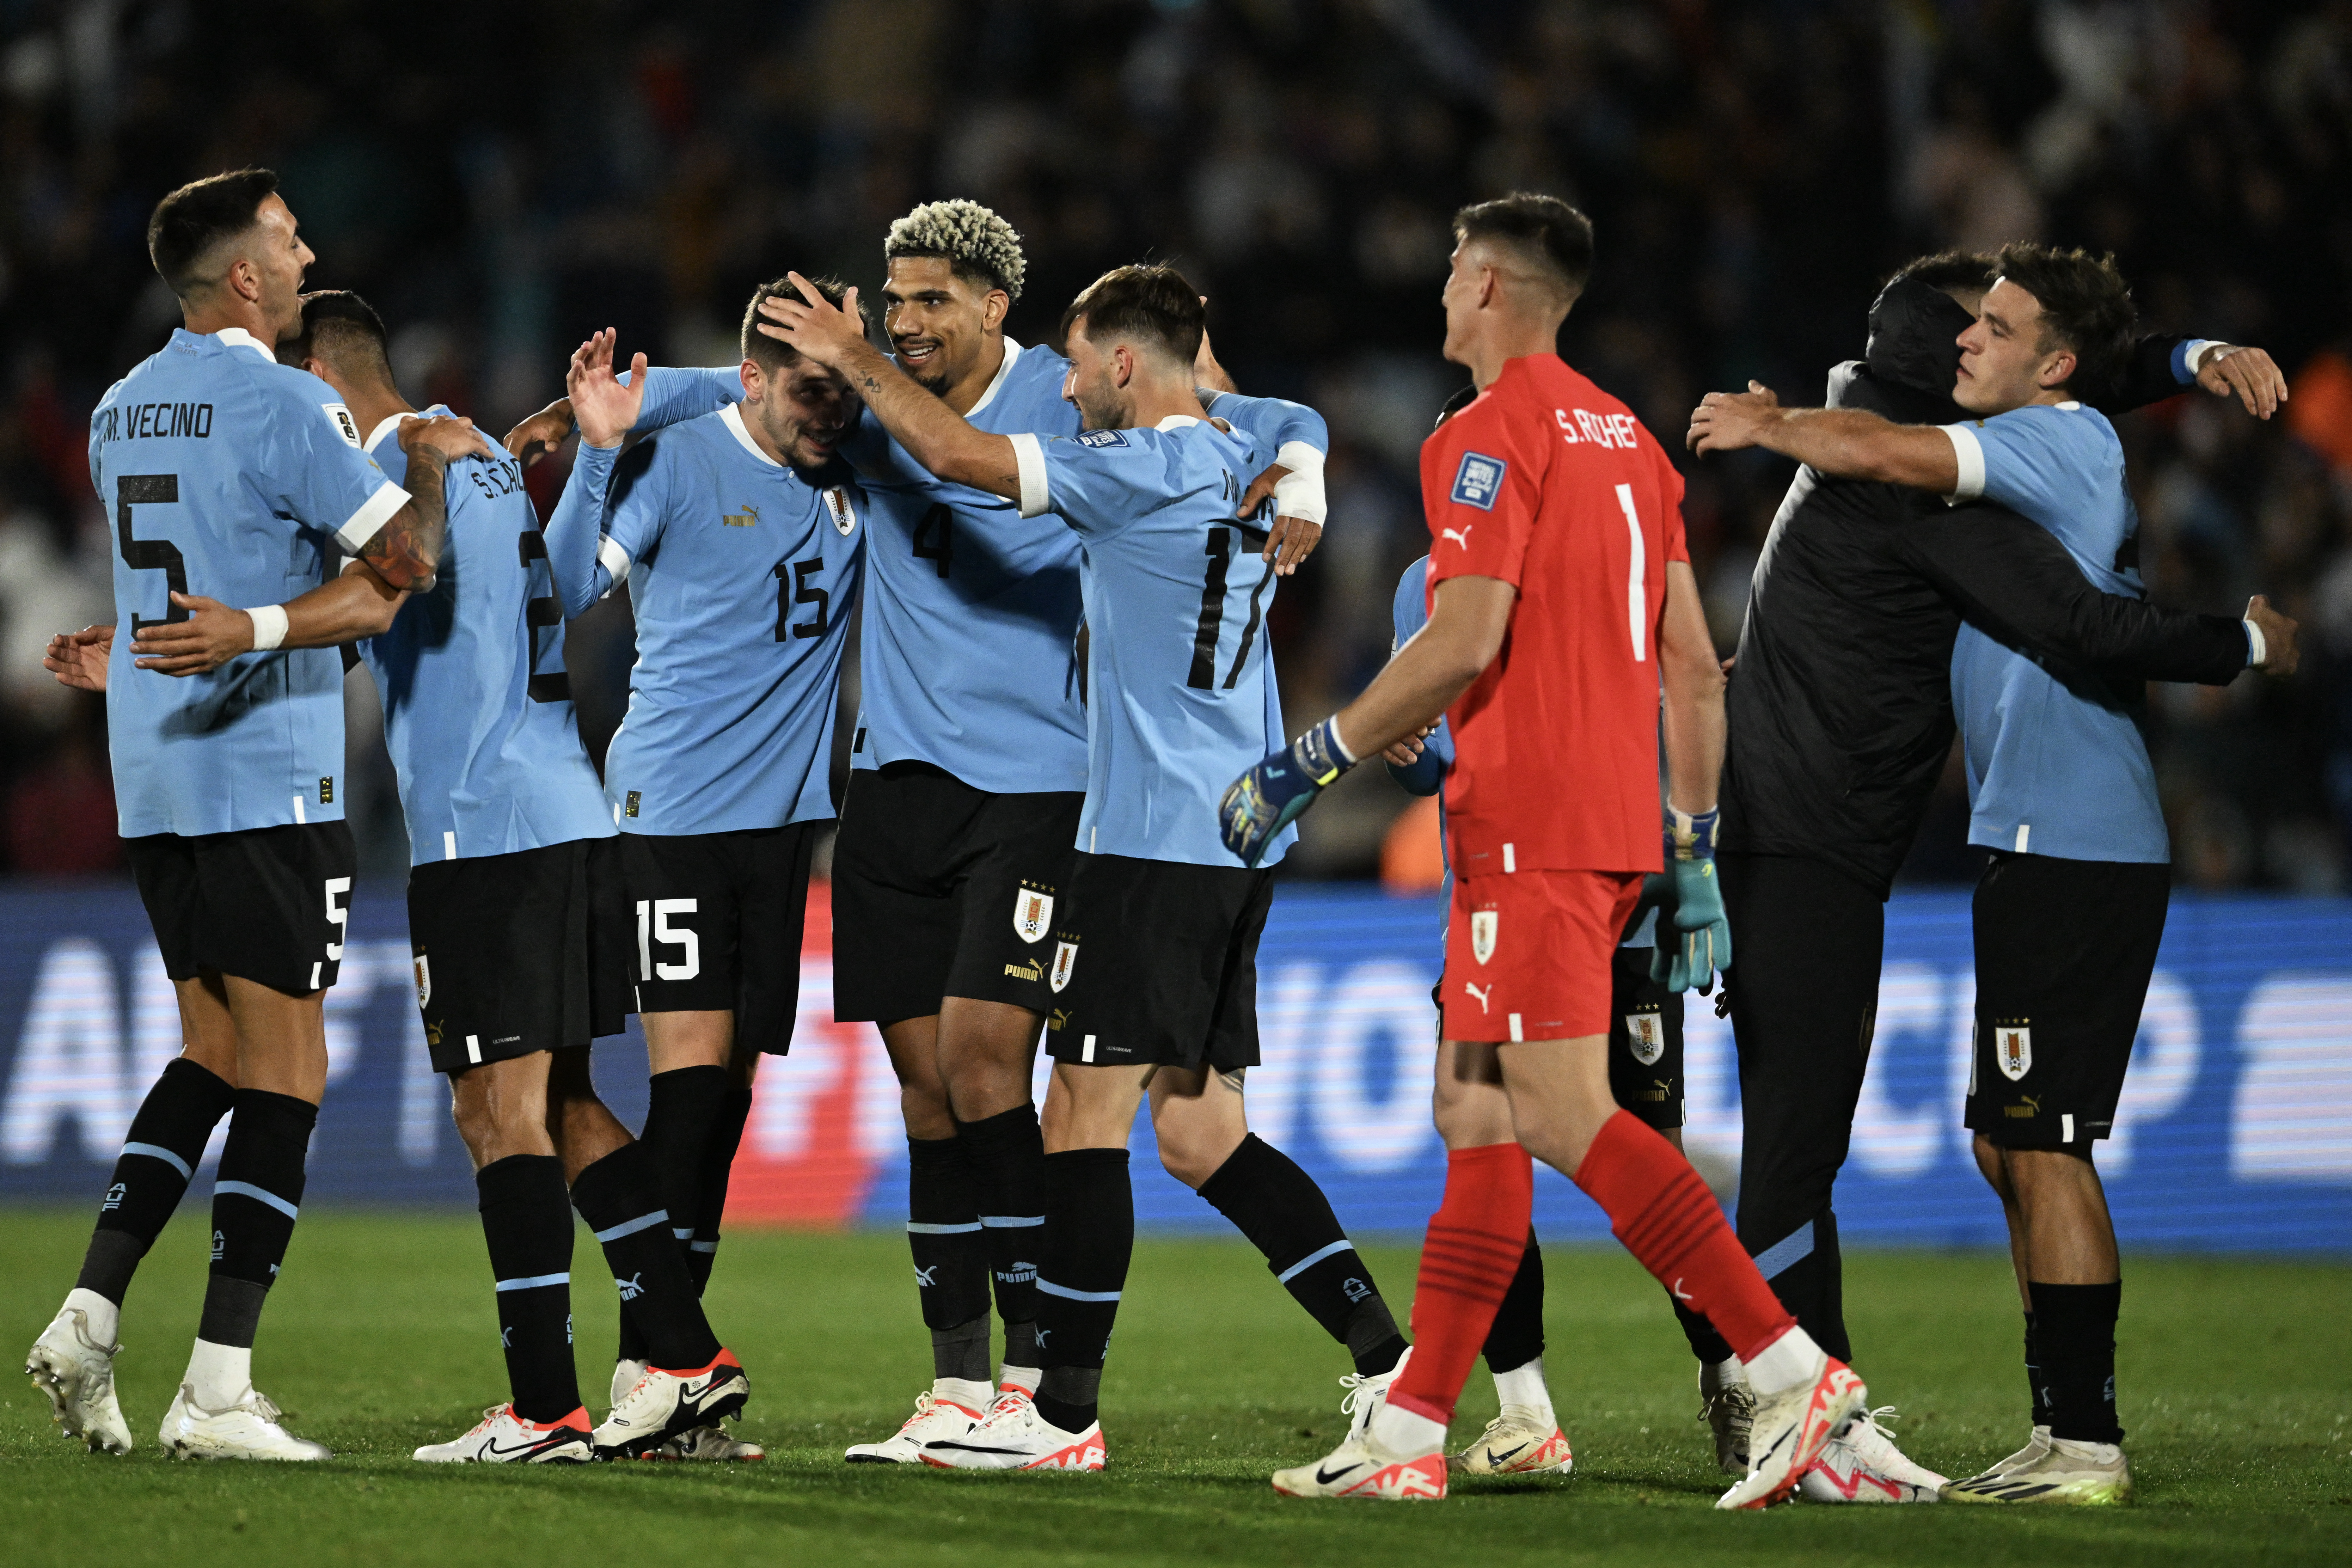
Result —
[{"label": "player second from left, back turned, facing the number 15 player", "polygon": [[[303,299],[280,360],[332,386],[388,470],[416,409],[358,294]],[[440,411],[440,409],[435,409]],[[433,1065],[475,1164],[510,1399],[428,1462],[680,1450],[743,1403],[647,1152],[588,1074],[628,1023],[635,950],[604,790],[581,748],[539,512],[503,451],[449,477],[440,578],[360,644],[409,825],[409,945]],[[604,1244],[644,1378],[590,1432],[572,1361],[572,1206]]]}]

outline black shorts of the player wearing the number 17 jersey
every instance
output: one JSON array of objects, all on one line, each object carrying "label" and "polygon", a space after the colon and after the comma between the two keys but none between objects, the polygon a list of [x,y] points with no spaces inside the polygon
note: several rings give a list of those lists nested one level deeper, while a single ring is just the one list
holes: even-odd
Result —
[{"label": "black shorts of the player wearing the number 17 jersey", "polygon": [[1075,860],[1054,926],[1047,1053],[1094,1067],[1256,1067],[1272,867]]}]

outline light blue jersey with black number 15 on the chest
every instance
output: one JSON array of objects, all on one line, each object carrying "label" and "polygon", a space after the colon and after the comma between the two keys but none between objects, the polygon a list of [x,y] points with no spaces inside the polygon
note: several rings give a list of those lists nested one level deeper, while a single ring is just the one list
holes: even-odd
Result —
[{"label": "light blue jersey with black number 15 on the chest", "polygon": [[548,520],[567,614],[628,583],[637,665],[604,752],[621,832],[833,816],[833,708],[866,559],[866,498],[811,484],[739,409],[581,447]]}]

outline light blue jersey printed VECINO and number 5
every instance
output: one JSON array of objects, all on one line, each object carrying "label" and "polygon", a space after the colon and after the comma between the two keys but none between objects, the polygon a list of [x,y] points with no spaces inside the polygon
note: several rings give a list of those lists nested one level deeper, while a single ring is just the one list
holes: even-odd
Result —
[{"label": "light blue jersey printed VECINO and number 5", "polygon": [[327,581],[407,503],[336,390],[240,327],[174,331],[89,416],[89,482],[115,529],[106,733],[125,839],[343,816],[343,656],[242,654],[209,675],[132,665],[132,637],[186,621],[172,590],[238,609]]}]

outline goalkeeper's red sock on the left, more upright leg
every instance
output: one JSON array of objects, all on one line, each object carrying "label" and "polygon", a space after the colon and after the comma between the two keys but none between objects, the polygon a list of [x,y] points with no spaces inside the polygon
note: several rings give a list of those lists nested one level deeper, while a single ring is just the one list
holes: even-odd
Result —
[{"label": "goalkeeper's red sock on the left, more upright leg", "polygon": [[1534,1206],[1536,1171],[1517,1143],[1446,1154],[1446,1197],[1430,1215],[1414,1286],[1414,1356],[1388,1403],[1439,1427],[1454,1420],[1494,1309],[1526,1253]]}]

